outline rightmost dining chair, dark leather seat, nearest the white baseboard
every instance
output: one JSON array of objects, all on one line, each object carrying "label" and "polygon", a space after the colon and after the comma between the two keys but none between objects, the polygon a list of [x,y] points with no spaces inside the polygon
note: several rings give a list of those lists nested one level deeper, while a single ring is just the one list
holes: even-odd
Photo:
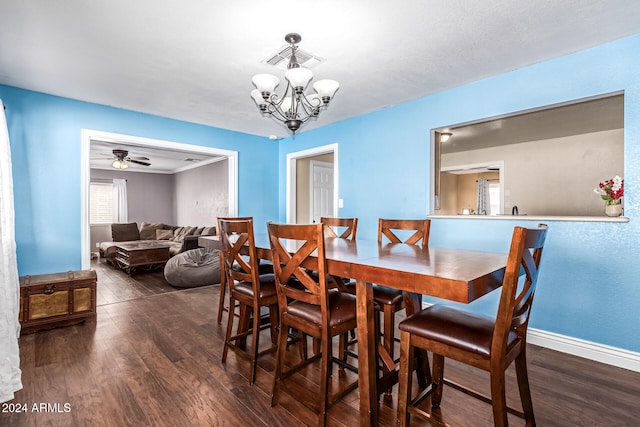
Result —
[{"label": "rightmost dining chair, dark leather seat, nearest the white baseboard", "polygon": [[[443,387],[448,385],[491,403],[496,426],[508,425],[507,412],[524,418],[528,426],[535,426],[527,375],[527,328],[547,229],[544,224],[529,229],[515,227],[495,317],[475,314],[464,307],[435,304],[398,325],[399,425],[408,425],[411,414],[428,422],[443,422],[417,405],[431,396],[432,408],[438,408]],[[414,348],[433,353],[433,383],[412,399],[411,369],[414,362],[411,355]],[[488,371],[491,397],[445,379],[445,358]],[[506,402],[505,370],[514,361],[523,412],[508,407]]]}]

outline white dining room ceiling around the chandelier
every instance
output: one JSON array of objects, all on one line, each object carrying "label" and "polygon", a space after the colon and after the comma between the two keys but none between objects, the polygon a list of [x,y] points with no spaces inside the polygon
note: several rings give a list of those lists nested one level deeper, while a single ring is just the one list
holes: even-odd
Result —
[{"label": "white dining room ceiling around the chandelier", "polygon": [[285,137],[249,92],[288,32],[341,84],[304,132],[638,34],[640,2],[0,0],[0,84]]}]

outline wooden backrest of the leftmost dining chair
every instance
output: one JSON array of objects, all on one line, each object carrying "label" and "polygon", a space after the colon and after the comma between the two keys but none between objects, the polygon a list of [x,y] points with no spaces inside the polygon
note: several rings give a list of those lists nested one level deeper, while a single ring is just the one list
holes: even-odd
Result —
[{"label": "wooden backrest of the leftmost dining chair", "polygon": [[[222,259],[229,288],[234,282],[260,283],[252,217],[218,218]],[[254,295],[257,289],[254,288]]]}]

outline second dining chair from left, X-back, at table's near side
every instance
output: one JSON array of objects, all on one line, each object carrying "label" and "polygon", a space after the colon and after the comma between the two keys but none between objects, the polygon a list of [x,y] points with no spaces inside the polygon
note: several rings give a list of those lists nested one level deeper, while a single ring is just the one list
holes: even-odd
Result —
[{"label": "second dining chair from left, X-back, at table's near side", "polygon": [[[322,224],[269,223],[267,228],[280,313],[271,405],[277,403],[278,389],[288,377],[320,358],[318,425],[323,426],[327,421],[327,410],[358,386],[356,379],[330,395],[330,366],[334,362],[346,365],[343,354],[339,358],[333,357],[332,339],[356,328],[356,299],[329,285]],[[319,339],[321,349],[318,354],[285,370],[289,328]],[[347,367],[356,371],[355,367]]]}]

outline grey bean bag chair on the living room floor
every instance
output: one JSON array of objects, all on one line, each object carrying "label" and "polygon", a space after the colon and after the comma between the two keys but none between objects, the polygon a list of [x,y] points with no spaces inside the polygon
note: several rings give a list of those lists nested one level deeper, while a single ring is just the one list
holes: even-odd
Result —
[{"label": "grey bean bag chair on the living room floor", "polygon": [[191,249],[167,261],[164,278],[177,288],[220,283],[220,251],[210,248]]}]

